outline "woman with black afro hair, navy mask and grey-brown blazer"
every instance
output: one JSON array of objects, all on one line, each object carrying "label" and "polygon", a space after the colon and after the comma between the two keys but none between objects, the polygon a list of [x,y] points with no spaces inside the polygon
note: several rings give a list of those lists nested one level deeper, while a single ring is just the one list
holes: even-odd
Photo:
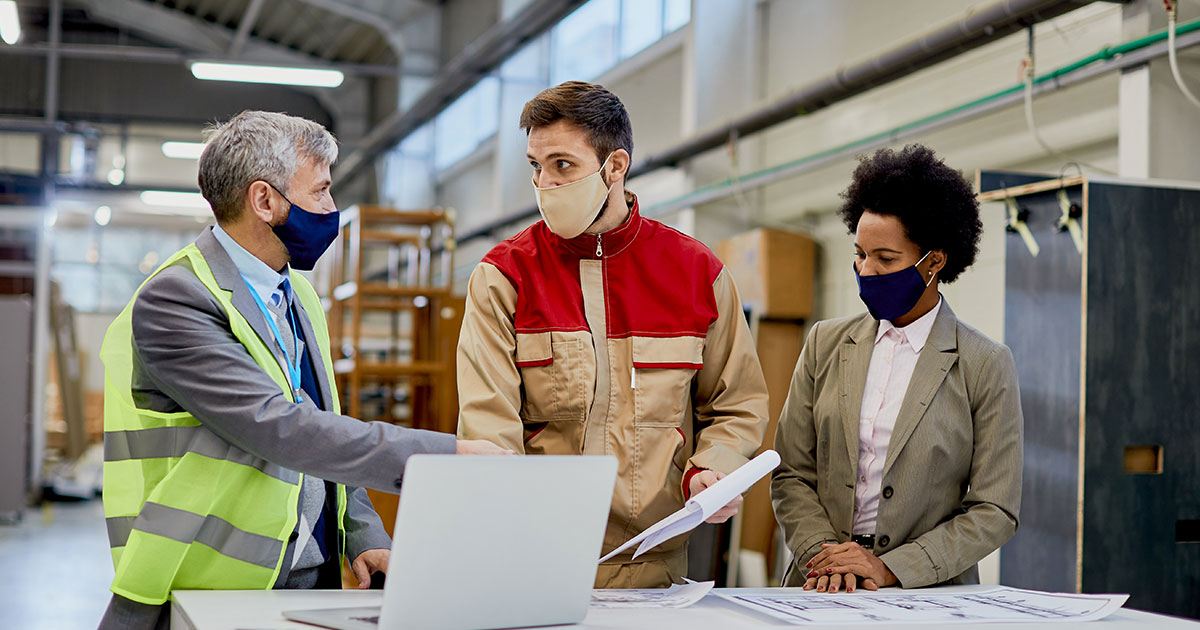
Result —
[{"label": "woman with black afro hair, navy mask and grey-brown blazer", "polygon": [[868,312],[814,324],[796,364],[772,479],[784,586],[978,583],[1021,500],[1013,355],[938,293],[974,262],[979,204],[916,144],[862,158],[842,197]]}]

